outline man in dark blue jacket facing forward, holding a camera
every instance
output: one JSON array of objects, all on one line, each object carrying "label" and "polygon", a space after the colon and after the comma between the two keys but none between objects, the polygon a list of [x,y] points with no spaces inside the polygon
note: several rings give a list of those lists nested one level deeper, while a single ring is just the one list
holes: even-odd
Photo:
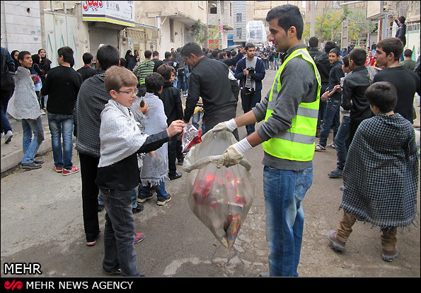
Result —
[{"label": "man in dark blue jacket facing forward, holding a camera", "polygon": [[[236,79],[240,80],[241,106],[244,113],[248,113],[262,98],[262,80],[265,78],[265,64],[259,57],[255,57],[255,46],[248,43],[247,57],[238,61]],[[247,135],[255,131],[255,123],[246,125]]]}]

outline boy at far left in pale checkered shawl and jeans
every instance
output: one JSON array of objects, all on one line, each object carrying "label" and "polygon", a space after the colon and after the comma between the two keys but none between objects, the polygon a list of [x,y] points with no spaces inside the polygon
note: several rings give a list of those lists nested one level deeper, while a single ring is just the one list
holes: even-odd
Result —
[{"label": "boy at far left in pale checkered shawl and jeans", "polygon": [[42,167],[41,163],[44,161],[35,160],[35,154],[44,140],[44,131],[42,130],[40,104],[30,74],[32,67],[30,52],[19,52],[18,60],[21,66],[18,67],[15,74],[15,91],[8,102],[7,113],[15,119],[22,120],[23,158],[21,168],[38,169]]}]

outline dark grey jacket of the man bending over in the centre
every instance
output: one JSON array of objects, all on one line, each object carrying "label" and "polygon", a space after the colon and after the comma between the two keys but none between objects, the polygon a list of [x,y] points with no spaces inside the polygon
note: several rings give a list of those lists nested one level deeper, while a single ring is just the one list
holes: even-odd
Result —
[{"label": "dark grey jacket of the man bending over in the centre", "polygon": [[190,72],[188,97],[185,101],[184,120],[189,121],[197,101],[202,97],[206,115],[233,106],[237,100],[231,91],[226,64],[208,57],[202,57]]}]

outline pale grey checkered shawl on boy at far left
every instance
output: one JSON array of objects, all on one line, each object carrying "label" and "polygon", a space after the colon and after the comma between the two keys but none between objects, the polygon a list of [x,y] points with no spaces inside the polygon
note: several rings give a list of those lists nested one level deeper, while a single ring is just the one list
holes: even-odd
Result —
[{"label": "pale grey checkered shawl on boy at far left", "polygon": [[15,74],[15,91],[8,101],[7,113],[15,119],[37,119],[41,115],[40,110],[30,70],[18,67]]}]

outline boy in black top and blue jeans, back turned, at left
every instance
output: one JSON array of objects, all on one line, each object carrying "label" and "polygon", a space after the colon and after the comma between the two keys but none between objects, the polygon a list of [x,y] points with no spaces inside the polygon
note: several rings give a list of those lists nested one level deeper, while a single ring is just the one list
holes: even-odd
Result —
[{"label": "boy in black top and blue jeans, back turned, at left", "polygon": [[[41,93],[48,96],[47,118],[51,133],[54,170],[67,176],[79,172],[73,166],[73,109],[81,87],[81,76],[71,68],[74,64],[71,47],[57,50],[59,66],[48,71]],[[62,144],[63,138],[63,144]]]}]

